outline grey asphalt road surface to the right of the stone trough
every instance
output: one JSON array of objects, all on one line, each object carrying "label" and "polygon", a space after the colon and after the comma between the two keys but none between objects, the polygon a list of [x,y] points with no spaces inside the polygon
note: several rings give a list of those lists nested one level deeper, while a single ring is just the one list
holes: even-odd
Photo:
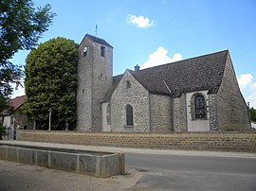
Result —
[{"label": "grey asphalt road surface to the right of the stone trough", "polygon": [[134,186],[155,190],[256,190],[256,159],[126,153],[126,165],[144,172]]}]

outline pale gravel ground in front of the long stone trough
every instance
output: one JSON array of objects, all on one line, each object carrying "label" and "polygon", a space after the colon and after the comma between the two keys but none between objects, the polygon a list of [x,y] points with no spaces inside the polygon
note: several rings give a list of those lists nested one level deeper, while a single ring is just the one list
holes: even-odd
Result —
[{"label": "pale gravel ground in front of the long stone trough", "polygon": [[0,190],[131,190],[142,173],[127,169],[126,175],[95,178],[36,165],[23,165],[0,160]]}]

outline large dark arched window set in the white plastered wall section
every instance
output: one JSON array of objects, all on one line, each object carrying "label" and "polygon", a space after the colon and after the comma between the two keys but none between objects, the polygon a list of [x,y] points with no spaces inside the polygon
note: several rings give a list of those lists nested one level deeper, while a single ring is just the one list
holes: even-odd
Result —
[{"label": "large dark arched window set in the white plastered wall section", "polygon": [[202,95],[197,95],[194,97],[194,110],[195,118],[202,119],[207,118],[207,105],[205,97]]}]

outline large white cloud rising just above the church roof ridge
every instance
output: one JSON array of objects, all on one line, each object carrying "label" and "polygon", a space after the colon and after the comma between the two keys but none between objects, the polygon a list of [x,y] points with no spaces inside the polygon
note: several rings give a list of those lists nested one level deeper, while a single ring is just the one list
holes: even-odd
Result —
[{"label": "large white cloud rising just above the church roof ridge", "polygon": [[164,63],[182,60],[182,55],[179,53],[174,54],[173,58],[169,57],[167,53],[168,51],[164,47],[159,46],[154,53],[149,55],[148,61],[145,61],[143,64],[141,64],[140,68],[144,69]]}]

